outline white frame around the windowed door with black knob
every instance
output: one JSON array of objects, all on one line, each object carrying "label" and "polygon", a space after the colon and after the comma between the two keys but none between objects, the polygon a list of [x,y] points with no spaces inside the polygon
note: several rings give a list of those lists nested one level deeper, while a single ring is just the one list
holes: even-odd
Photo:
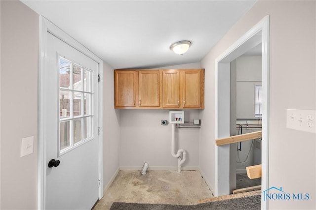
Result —
[{"label": "white frame around the windowed door with black knob", "polygon": [[98,135],[98,166],[99,166],[99,199],[103,197],[103,134],[101,132],[102,124],[103,124],[103,113],[102,113],[102,105],[103,105],[103,61],[99,59],[96,55],[94,55],[91,51],[81,45],[77,40],[68,35],[63,30],[59,29],[57,26],[52,24],[50,21],[45,19],[40,15],[40,27],[39,27],[39,77],[38,77],[38,108],[39,108],[39,119],[38,119],[38,209],[45,209],[45,185],[46,185],[46,138],[45,138],[45,127],[43,126],[45,120],[47,119],[43,112],[43,104],[44,104],[44,85],[42,81],[44,78],[44,71],[46,69],[46,60],[47,60],[47,33],[51,33],[60,40],[64,41],[68,45],[77,49],[82,54],[86,55],[90,59],[96,61],[98,63],[98,74],[100,75],[100,82],[98,83],[98,127],[99,127],[99,135]]}]

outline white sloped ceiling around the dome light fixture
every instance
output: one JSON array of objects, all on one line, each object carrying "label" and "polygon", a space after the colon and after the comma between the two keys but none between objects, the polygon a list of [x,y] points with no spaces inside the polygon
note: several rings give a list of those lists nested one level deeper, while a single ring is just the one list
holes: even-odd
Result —
[{"label": "white sloped ceiling around the dome light fixture", "polygon": [[[199,62],[256,0],[21,0],[113,68]],[[183,56],[170,45],[190,40]]]}]

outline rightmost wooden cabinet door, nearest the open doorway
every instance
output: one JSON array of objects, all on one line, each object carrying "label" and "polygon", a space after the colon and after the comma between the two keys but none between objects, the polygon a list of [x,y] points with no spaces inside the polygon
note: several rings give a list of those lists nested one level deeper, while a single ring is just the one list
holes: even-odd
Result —
[{"label": "rightmost wooden cabinet door, nearest the open doorway", "polygon": [[200,75],[199,69],[182,71],[184,108],[200,107]]}]

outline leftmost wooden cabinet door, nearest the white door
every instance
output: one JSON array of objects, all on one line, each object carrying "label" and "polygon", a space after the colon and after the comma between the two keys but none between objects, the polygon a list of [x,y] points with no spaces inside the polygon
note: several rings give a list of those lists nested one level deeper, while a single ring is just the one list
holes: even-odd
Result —
[{"label": "leftmost wooden cabinet door, nearest the white door", "polygon": [[115,107],[134,107],[136,71],[115,71]]}]

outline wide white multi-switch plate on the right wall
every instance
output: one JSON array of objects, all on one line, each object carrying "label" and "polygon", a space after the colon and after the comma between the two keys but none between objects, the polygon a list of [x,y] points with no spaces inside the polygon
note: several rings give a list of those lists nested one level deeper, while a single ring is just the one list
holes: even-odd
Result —
[{"label": "wide white multi-switch plate on the right wall", "polygon": [[286,127],[316,133],[316,110],[287,109]]}]

